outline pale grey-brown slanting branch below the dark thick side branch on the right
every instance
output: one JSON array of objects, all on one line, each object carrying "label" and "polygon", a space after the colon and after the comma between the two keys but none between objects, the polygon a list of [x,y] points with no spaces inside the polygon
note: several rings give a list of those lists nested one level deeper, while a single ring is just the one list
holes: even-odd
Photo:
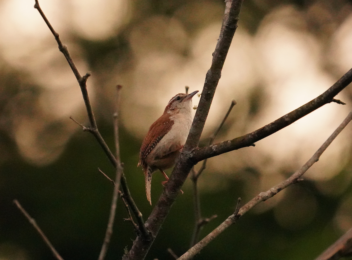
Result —
[{"label": "pale grey-brown slanting branch below the dark thick side branch on the right", "polygon": [[337,137],[337,135],[346,127],[346,125],[352,120],[352,111],[347,115],[345,120],[339,125],[338,128],[332,133],[332,135],[322,144],[322,146],[314,153],[314,155],[305,163],[298,171],[296,171],[293,175],[291,175],[288,179],[283,182],[275,185],[271,189],[261,192],[259,195],[251,199],[247,202],[243,207],[238,210],[237,214],[232,214],[229,216],[224,222],[220,224],[217,228],[215,228],[210,234],[208,234],[205,238],[203,238],[199,243],[197,243],[194,247],[190,248],[185,254],[183,254],[179,260],[186,260],[193,258],[196,254],[198,254],[202,248],[204,248],[210,241],[212,241],[219,234],[224,232],[225,229],[234,224],[241,216],[243,216],[247,211],[253,208],[260,202],[266,201],[267,199],[273,197],[281,190],[287,188],[291,184],[300,182],[302,179],[300,178],[314,163],[316,163],[321,154],[326,150],[326,148],[331,144],[331,142]]}]

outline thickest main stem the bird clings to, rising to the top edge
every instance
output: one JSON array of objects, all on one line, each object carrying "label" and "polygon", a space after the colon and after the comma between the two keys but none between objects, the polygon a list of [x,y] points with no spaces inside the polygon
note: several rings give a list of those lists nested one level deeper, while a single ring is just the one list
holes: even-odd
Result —
[{"label": "thickest main stem the bird clings to, rising to the top edge", "polygon": [[199,143],[208,116],[210,104],[212,103],[215,89],[221,76],[221,70],[237,28],[237,22],[239,19],[238,15],[242,2],[243,0],[225,1],[225,13],[220,36],[213,53],[212,65],[206,75],[201,99],[186,144],[183,147],[183,152],[178,158],[176,166],[171,173],[170,179],[166,184],[162,195],[159,197],[157,204],[146,221],[146,226],[152,234],[152,239],[149,241],[143,241],[140,237],[137,237],[127,256],[128,259],[143,260],[145,258],[179,193],[182,184],[186,180],[189,171],[194,166],[194,163],[191,160],[191,154]]}]

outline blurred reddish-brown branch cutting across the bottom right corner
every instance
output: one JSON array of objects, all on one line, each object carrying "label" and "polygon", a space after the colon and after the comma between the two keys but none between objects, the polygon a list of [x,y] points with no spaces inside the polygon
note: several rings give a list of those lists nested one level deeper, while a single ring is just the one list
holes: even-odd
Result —
[{"label": "blurred reddish-brown branch cutting across the bottom right corner", "polygon": [[337,260],[352,254],[352,228],[329,246],[315,260]]}]

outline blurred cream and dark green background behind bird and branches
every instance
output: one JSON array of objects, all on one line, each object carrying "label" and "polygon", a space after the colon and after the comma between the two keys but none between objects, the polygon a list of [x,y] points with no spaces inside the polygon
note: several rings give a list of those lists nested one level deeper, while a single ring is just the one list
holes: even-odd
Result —
[{"label": "blurred cream and dark green background behind bird and branches", "polygon": [[[54,259],[15,208],[17,198],[64,259],[97,259],[113,187],[98,171],[114,169],[87,125],[80,88],[30,0],[0,1],[0,259]],[[99,129],[114,150],[115,85],[121,90],[121,159],[144,218],[151,212],[139,148],[177,93],[202,90],[219,36],[222,0],[41,0],[40,5],[88,79]],[[254,131],[310,101],[352,66],[352,2],[245,0],[201,144],[237,105],[215,142]],[[287,178],[313,155],[352,103],[352,89],[289,127],[208,160],[199,180],[205,236],[245,203]],[[196,105],[199,97],[193,98]],[[305,175],[256,206],[196,259],[314,259],[352,227],[352,127]],[[199,167],[197,165],[196,167]],[[171,170],[168,171],[170,173]],[[153,175],[152,202],[162,191]],[[194,223],[192,186],[172,210],[146,259],[187,251]],[[107,259],[135,238],[118,203]]]}]

